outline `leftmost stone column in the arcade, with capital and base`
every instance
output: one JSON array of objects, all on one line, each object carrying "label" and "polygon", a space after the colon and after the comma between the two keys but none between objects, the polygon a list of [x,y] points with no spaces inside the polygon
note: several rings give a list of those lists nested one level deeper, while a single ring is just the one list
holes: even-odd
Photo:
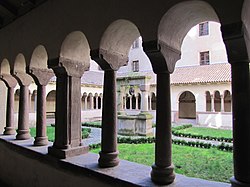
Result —
[{"label": "leftmost stone column in the arcade, with capital and base", "polygon": [[10,74],[2,74],[1,80],[4,81],[8,88],[7,105],[6,105],[6,127],[4,127],[4,135],[14,135],[16,130],[14,127],[14,88],[17,81]]}]

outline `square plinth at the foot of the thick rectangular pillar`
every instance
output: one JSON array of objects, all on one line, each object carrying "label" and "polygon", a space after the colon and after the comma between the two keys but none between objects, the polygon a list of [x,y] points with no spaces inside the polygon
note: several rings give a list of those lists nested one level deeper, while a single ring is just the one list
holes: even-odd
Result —
[{"label": "square plinth at the foot of the thick rectangular pillar", "polygon": [[82,155],[88,153],[88,151],[89,151],[89,146],[78,146],[68,149],[60,149],[54,146],[48,147],[48,154],[60,159]]}]

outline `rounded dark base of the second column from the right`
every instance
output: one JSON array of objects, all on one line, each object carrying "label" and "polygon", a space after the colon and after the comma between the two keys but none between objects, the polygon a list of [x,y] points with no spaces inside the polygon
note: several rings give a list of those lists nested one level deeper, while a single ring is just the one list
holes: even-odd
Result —
[{"label": "rounded dark base of the second column from the right", "polygon": [[175,173],[174,166],[160,168],[156,165],[152,166],[151,180],[157,184],[171,184],[174,182]]}]

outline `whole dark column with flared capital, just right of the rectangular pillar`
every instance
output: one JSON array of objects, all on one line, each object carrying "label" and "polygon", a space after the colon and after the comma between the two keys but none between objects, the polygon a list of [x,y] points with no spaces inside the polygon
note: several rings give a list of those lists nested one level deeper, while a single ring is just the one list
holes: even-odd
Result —
[{"label": "whole dark column with flared capital, just right of the rectangular pillar", "polygon": [[128,59],[127,57],[114,56],[102,49],[91,51],[91,57],[104,70],[102,143],[98,162],[100,167],[113,167],[119,164],[119,152],[117,150],[116,71],[121,66],[124,66]]}]

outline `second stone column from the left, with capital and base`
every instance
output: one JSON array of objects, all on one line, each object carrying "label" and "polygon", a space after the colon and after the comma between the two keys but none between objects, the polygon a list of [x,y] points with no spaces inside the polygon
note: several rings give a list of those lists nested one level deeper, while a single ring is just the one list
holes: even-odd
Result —
[{"label": "second stone column from the left, with capital and base", "polygon": [[18,111],[18,129],[17,129],[17,140],[29,139],[29,85],[32,83],[32,78],[24,72],[24,70],[13,70],[13,76],[16,78],[20,85],[20,96],[19,96],[19,111]]}]

